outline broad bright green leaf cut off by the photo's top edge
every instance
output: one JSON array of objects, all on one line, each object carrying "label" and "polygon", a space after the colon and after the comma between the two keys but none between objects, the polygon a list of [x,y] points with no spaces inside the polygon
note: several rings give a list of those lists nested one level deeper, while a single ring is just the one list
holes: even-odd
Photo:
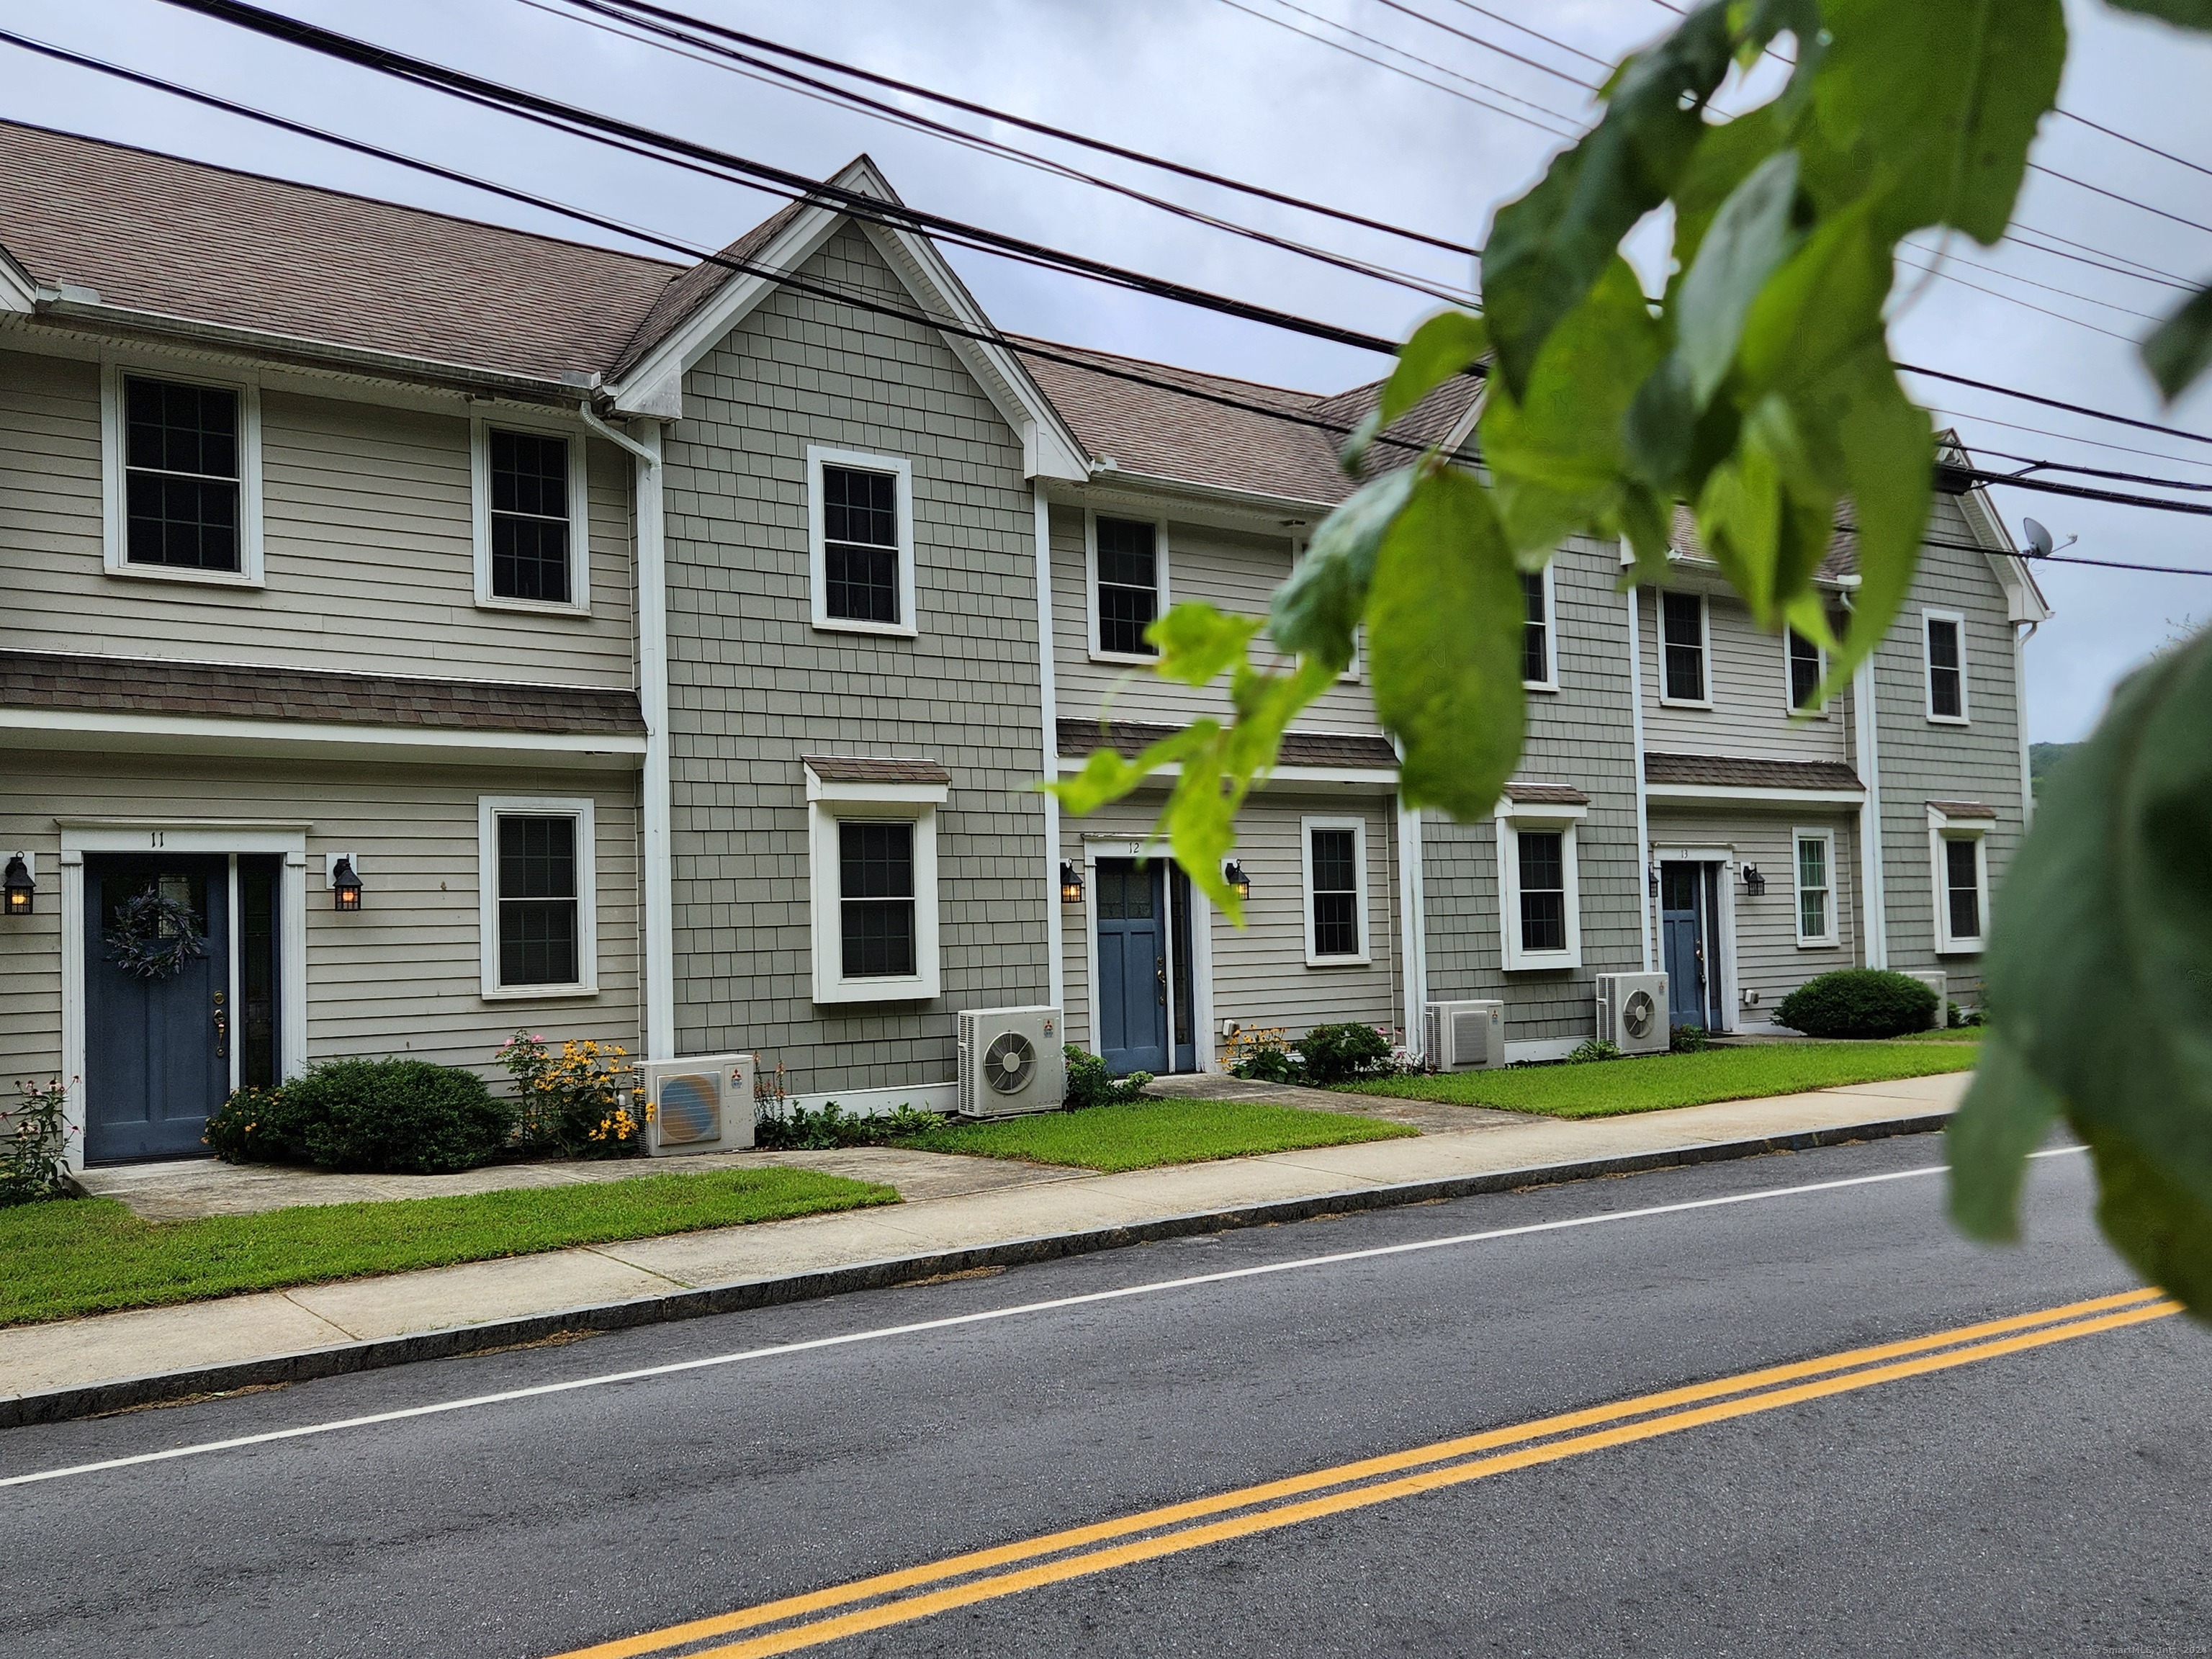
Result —
[{"label": "broad bright green leaf cut off by the photo's top edge", "polygon": [[1887,237],[1958,226],[1995,243],[2057,102],[2062,0],[1823,0],[1820,15],[1812,108],[1834,157],[1807,157],[1812,192],[1874,201]]}]

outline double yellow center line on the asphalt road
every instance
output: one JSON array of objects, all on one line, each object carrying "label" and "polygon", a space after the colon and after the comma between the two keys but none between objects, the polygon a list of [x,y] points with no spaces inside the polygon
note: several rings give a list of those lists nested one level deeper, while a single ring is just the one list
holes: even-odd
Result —
[{"label": "double yellow center line on the asphalt road", "polygon": [[[1044,1533],[1018,1544],[949,1555],[925,1566],[878,1573],[827,1590],[790,1595],[712,1619],[692,1619],[622,1641],[577,1648],[560,1659],[633,1659],[633,1655],[675,1652],[684,1652],[686,1659],[752,1659],[754,1655],[796,1652],[865,1630],[927,1619],[933,1613],[1020,1595],[1044,1584],[1064,1584],[1135,1562],[1181,1555],[1323,1515],[1343,1515],[1484,1475],[1502,1475],[1509,1469],[1528,1469],[1584,1451],[1655,1440],[1708,1422],[1747,1418],[1754,1411],[1774,1411],[1803,1400],[1869,1389],[1878,1383],[1947,1371],[1955,1365],[2022,1354],[2031,1347],[2141,1325],[2179,1312],[2181,1303],[2170,1301],[2159,1290],[2130,1290],[2035,1314],[1913,1336],[1902,1343],[1854,1347],[1816,1360],[1772,1365],[1712,1383],[1639,1394],[1630,1400],[1562,1411],[1383,1458],[1314,1469],[1287,1480],[1239,1486],[1119,1520]],[[739,1639],[721,1641],[721,1637]]]}]

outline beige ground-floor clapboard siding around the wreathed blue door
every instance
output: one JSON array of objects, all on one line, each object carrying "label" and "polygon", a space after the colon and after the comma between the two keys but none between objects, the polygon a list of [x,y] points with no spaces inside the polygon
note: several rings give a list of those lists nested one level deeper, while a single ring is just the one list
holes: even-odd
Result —
[{"label": "beige ground-floor clapboard siding around the wreathed blue door", "polygon": [[[593,801],[599,993],[484,1000],[478,796]],[[55,818],[310,823],[307,1057],[409,1055],[498,1075],[518,1026],[597,1037],[635,1053],[639,1033],[637,785],[544,770],[276,765],[155,757],[0,754],[0,843],[38,854],[38,909],[9,922],[0,956],[0,1060],[18,1075],[62,1064],[60,830]],[[330,852],[361,854],[363,909],[323,889]],[[97,949],[97,947],[95,947]]]}]

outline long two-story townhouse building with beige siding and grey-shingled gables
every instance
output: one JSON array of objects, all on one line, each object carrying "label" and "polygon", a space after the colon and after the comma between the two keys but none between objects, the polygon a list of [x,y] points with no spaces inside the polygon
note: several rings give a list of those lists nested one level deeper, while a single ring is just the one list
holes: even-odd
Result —
[{"label": "long two-story townhouse building with beige siding and grey-shingled gables", "polygon": [[[836,184],[891,199],[865,157]],[[487,1068],[515,1029],[947,1106],[978,1006],[1206,1071],[1237,1026],[1469,995],[1564,1053],[1595,973],[1699,949],[1677,1018],[1725,1029],[1847,960],[1971,982],[2042,615],[1978,498],[1938,540],[1991,553],[1931,551],[1825,719],[1694,542],[1666,593],[1571,544],[1528,580],[1486,823],[1402,810],[1354,664],[1252,796],[1239,931],[1146,858],[1159,790],[1075,821],[1035,785],[1219,712],[1144,626],[1265,608],[1347,491],[1267,411],[1374,387],[1009,341],[927,239],[821,199],[672,265],[0,124],[0,856],[31,889],[0,1044],[77,1079],[91,1159],[195,1152],[230,1088],[321,1057]],[[1467,380],[1402,431],[1475,414]],[[199,956],[133,973],[133,927]]]}]

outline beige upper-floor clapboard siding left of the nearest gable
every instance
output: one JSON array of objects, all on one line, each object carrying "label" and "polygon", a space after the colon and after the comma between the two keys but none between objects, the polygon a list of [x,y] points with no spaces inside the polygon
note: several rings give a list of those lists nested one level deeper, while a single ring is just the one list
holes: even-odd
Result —
[{"label": "beige upper-floor clapboard siding left of the nearest gable", "polygon": [[476,604],[469,422],[261,394],[263,586],[108,575],[100,365],[0,352],[0,555],[27,650],[633,686],[630,458],[580,442],[591,615]]}]

